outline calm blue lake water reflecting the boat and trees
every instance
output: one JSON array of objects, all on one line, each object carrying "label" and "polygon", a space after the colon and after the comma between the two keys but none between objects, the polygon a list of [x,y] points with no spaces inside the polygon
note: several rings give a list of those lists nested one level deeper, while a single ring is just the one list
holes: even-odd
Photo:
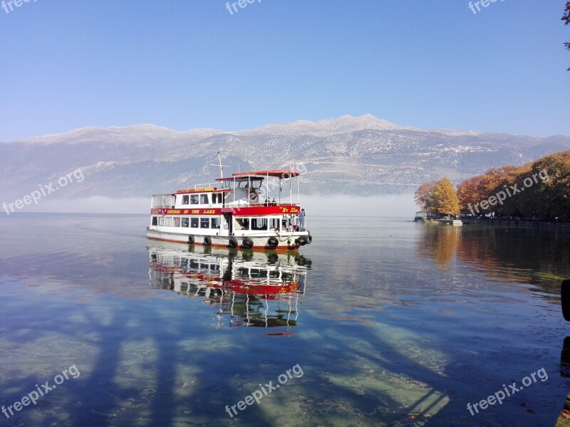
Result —
[{"label": "calm blue lake water reflecting the boat and trees", "polygon": [[276,254],[146,225],[0,219],[0,426],[552,426],[564,406],[567,230],[309,217],[314,242]]}]

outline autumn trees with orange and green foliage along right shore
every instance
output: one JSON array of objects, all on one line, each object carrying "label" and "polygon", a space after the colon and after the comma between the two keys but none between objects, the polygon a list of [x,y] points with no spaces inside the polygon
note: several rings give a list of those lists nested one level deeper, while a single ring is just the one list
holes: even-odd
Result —
[{"label": "autumn trees with orange and green foliage along right shore", "polygon": [[[462,214],[482,223],[570,221],[570,150],[522,166],[503,166],[462,181],[422,184],[415,201],[430,216]],[[468,221],[468,220],[467,220]]]}]

